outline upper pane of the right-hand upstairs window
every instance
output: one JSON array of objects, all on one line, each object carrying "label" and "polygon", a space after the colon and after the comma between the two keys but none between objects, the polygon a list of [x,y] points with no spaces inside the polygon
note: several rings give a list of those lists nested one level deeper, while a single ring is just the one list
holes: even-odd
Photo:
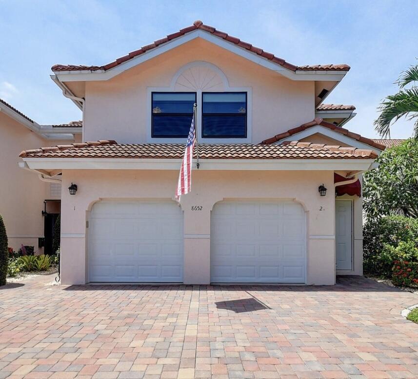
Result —
[{"label": "upper pane of the right-hand upstairs window", "polygon": [[245,93],[205,93],[203,113],[246,113]]}]

